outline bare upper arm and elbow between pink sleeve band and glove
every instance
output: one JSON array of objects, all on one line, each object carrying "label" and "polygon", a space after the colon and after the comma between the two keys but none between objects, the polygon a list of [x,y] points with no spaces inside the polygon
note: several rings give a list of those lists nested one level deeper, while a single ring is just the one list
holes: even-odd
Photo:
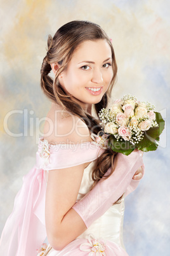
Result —
[{"label": "bare upper arm and elbow between pink sleeve band and glove", "polygon": [[46,190],[46,231],[55,250],[62,250],[86,230],[81,217],[72,210],[81,185],[84,164],[49,171]]}]

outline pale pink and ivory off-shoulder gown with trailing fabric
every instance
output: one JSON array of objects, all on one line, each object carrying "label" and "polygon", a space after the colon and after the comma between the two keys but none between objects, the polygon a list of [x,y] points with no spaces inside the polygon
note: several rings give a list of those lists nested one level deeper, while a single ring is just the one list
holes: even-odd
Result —
[{"label": "pale pink and ivory off-shoulder gown with trailing fabric", "polygon": [[[114,204],[104,215],[79,236],[56,251],[47,245],[37,254],[46,239],[45,196],[48,172],[91,162],[84,169],[81,187],[77,197],[80,200],[91,188],[91,171],[98,153],[103,150],[93,143],[77,145],[48,145],[39,140],[36,165],[23,177],[23,186],[15,197],[13,212],[6,221],[0,241],[0,256],[36,255],[89,255],[126,256],[122,239],[124,218],[124,197],[132,192],[139,181],[132,180],[120,204]],[[138,169],[138,168],[137,168]]]}]

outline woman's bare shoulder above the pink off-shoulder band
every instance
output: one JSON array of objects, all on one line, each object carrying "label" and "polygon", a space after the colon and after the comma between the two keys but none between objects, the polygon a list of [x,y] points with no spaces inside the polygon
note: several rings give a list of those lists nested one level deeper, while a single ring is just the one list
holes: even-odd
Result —
[{"label": "woman's bare shoulder above the pink off-shoulder band", "polygon": [[48,143],[85,143],[91,141],[89,129],[81,118],[52,103],[44,124]]}]

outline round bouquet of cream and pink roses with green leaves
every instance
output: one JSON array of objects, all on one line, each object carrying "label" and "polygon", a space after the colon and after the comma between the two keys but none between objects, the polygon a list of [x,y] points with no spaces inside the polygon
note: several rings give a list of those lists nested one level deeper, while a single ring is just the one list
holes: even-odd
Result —
[{"label": "round bouquet of cream and pink roses with green leaves", "polygon": [[114,101],[110,109],[103,108],[99,113],[104,132],[100,143],[124,155],[135,148],[143,152],[156,150],[164,120],[154,108],[129,94]]}]

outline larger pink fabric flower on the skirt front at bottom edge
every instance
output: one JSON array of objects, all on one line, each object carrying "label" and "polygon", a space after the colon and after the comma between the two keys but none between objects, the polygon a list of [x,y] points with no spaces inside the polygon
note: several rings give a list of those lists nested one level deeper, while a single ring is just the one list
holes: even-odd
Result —
[{"label": "larger pink fabric flower on the skirt front at bottom edge", "polygon": [[89,252],[89,256],[107,256],[105,253],[106,246],[101,243],[91,234],[88,236],[89,243],[82,243],[80,250],[82,252]]}]

